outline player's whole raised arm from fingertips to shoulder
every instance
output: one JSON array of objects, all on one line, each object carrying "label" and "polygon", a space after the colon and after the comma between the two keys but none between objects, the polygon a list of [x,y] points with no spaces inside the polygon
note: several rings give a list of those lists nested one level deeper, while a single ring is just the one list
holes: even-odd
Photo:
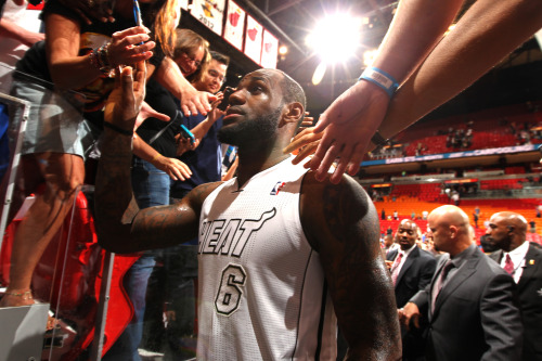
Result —
[{"label": "player's whole raised arm from fingertips to shoulder", "polygon": [[105,129],[96,188],[96,231],[112,252],[131,253],[182,243],[197,234],[199,207],[217,184],[192,191],[181,204],[140,210],[133,198],[130,165],[132,129],[145,93],[145,65],[122,69],[105,106]]}]

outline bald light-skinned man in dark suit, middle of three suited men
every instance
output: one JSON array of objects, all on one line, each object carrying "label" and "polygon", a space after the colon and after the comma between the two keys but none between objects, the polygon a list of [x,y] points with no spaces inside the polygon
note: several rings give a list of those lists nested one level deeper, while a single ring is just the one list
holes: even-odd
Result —
[{"label": "bald light-skinned man in dark suit, middle of three suited men", "polygon": [[440,257],[429,286],[400,310],[401,322],[417,326],[425,311],[428,361],[519,360],[522,326],[514,280],[476,247],[460,208],[436,208],[428,227],[435,247],[449,255]]}]

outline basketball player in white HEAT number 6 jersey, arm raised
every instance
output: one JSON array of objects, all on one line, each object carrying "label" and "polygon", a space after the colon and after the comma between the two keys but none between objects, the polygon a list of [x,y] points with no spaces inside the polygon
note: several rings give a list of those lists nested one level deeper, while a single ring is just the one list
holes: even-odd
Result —
[{"label": "basketball player in white HEAT number 6 jersey, arm raised", "polygon": [[197,357],[335,360],[338,321],[348,360],[399,360],[393,288],[371,199],[348,176],[320,183],[282,153],[305,113],[300,86],[274,69],[245,76],[219,132],[238,146],[237,177],[140,210],[130,159],[144,67],[133,83],[131,72],[122,70],[106,107],[99,238],[131,253],[198,235]]}]

